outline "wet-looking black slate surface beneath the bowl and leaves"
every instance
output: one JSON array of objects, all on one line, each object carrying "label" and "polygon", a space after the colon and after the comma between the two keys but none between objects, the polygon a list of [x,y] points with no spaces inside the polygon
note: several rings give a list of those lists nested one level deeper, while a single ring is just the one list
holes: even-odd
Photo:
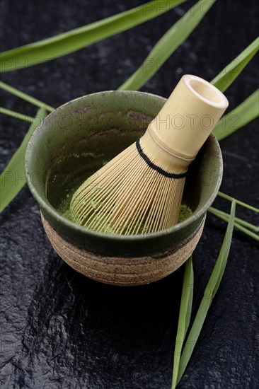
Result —
[{"label": "wet-looking black slate surface beneath the bowl and leaves", "polygon": [[[85,4],[86,3],[86,4]],[[62,59],[3,74],[2,80],[58,106],[115,89],[193,3]],[[1,1],[1,49],[124,11],[142,1]],[[184,73],[212,79],[256,36],[255,1],[217,1],[191,37],[142,89],[168,96]],[[256,86],[256,60],[227,91],[231,108]],[[35,108],[2,93],[6,108]],[[2,117],[1,169],[28,125]],[[258,204],[258,128],[249,124],[221,142],[221,190]],[[226,211],[229,203],[217,200]],[[238,216],[258,223],[238,207]],[[226,226],[208,216],[194,254],[193,313]],[[1,215],[1,388],[171,388],[173,344],[183,268],[155,284],[105,286],[70,269],[42,230],[38,204],[24,187]],[[258,388],[258,245],[234,233],[224,279],[179,388]]]}]

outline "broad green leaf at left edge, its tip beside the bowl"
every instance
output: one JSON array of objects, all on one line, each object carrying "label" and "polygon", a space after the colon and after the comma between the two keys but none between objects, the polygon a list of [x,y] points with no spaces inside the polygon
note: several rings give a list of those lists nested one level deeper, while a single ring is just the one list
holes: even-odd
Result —
[{"label": "broad green leaf at left edge, its tip beside the bowl", "polygon": [[30,139],[31,134],[40,122],[46,116],[46,110],[41,108],[38,110],[33,124],[31,124],[27,134],[25,135],[21,146],[13,154],[11,161],[8,163],[4,172],[0,175],[0,212],[12,201],[16,194],[20,192],[25,184],[24,158],[25,149]]}]

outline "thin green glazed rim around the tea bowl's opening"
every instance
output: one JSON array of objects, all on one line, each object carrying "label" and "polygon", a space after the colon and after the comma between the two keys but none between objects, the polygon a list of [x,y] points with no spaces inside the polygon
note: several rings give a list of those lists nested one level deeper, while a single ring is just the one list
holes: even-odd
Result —
[{"label": "thin green glazed rim around the tea bowl's opening", "polygon": [[[221,185],[221,180],[222,180],[222,175],[223,175],[223,161],[222,161],[222,156],[221,156],[221,149],[219,146],[219,142],[217,141],[216,137],[214,137],[214,134],[210,134],[209,137],[214,138],[215,145],[219,149],[219,175],[217,177],[217,182],[215,182],[214,185],[214,190],[212,192],[212,195],[209,197],[207,202],[200,208],[198,211],[193,211],[192,215],[189,216],[187,219],[184,221],[181,221],[180,223],[175,224],[175,226],[172,226],[170,228],[166,228],[162,231],[156,231],[154,233],[146,233],[146,234],[137,234],[137,235],[118,235],[118,234],[113,234],[113,233],[103,233],[100,231],[94,231],[89,228],[86,228],[84,226],[79,226],[79,224],[74,223],[73,221],[70,221],[66,217],[62,216],[59,214],[59,212],[52,207],[52,205],[47,201],[45,201],[45,198],[43,198],[37,190],[37,186],[33,185],[33,180],[30,180],[30,171],[29,171],[29,161],[30,161],[30,154],[33,152],[33,146],[35,142],[38,140],[38,134],[42,132],[42,128],[44,128],[45,122],[49,120],[50,117],[57,115],[57,112],[59,110],[62,110],[64,107],[67,105],[71,105],[71,103],[74,103],[77,100],[81,100],[83,98],[90,98],[91,96],[96,96],[96,95],[106,95],[106,94],[111,94],[111,93],[117,93],[117,94],[127,94],[127,95],[139,95],[142,94],[144,96],[152,96],[157,98],[158,100],[163,101],[163,103],[166,103],[166,98],[163,98],[159,95],[155,95],[154,93],[146,93],[146,92],[139,92],[139,91],[102,91],[102,92],[97,92],[97,93],[91,93],[89,95],[84,95],[80,96],[79,98],[75,98],[73,100],[68,101],[67,103],[64,103],[63,105],[60,105],[56,110],[53,112],[50,112],[47,117],[45,117],[44,120],[36,127],[35,131],[33,132],[32,136],[30,137],[30,140],[28,142],[27,149],[25,151],[25,177],[27,180],[28,187],[30,189],[30,192],[33,194],[33,197],[37,200],[38,204],[40,204],[40,207],[44,209],[50,216],[52,216],[53,219],[55,219],[57,222],[67,226],[68,228],[71,228],[75,232],[80,232],[84,233],[86,236],[93,236],[93,237],[100,237],[100,238],[105,238],[107,240],[124,240],[124,241],[136,241],[136,240],[143,240],[145,239],[151,239],[154,237],[162,237],[162,236],[168,236],[170,233],[174,233],[175,231],[179,231],[181,229],[184,229],[185,227],[188,227],[190,224],[192,224],[193,221],[201,218],[207,211],[207,209],[211,206],[212,202],[214,202],[215,197],[217,196],[217,192],[219,191],[219,187]],[[47,198],[46,198],[47,199]]]}]

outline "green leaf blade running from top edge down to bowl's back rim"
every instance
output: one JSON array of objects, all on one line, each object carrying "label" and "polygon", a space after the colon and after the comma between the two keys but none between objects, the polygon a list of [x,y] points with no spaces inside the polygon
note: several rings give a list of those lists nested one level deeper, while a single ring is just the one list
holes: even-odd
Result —
[{"label": "green leaf blade running from top edge down to bowl's back rim", "polygon": [[151,79],[166,59],[187,39],[216,0],[200,0],[156,43],[143,64],[118,89],[137,91]]}]

